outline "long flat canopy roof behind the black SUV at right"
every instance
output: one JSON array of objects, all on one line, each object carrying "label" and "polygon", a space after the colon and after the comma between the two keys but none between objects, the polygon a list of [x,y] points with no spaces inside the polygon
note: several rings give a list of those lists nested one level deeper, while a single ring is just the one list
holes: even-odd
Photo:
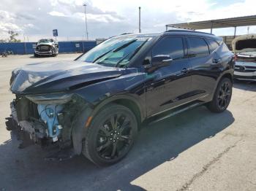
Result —
[{"label": "long flat canopy roof behind the black SUV at right", "polygon": [[227,28],[236,26],[256,26],[256,15],[166,25],[166,27],[187,28],[191,30],[208,28]]}]

